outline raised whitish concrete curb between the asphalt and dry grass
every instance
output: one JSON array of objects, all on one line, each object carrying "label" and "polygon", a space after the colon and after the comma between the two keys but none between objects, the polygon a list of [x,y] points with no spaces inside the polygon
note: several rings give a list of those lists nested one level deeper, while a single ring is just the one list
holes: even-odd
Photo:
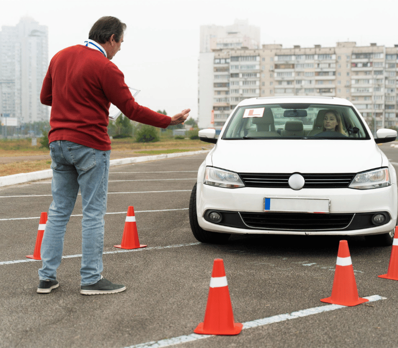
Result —
[{"label": "raised whitish concrete curb between the asphalt and dry grass", "polygon": [[[173,153],[173,154],[161,154],[161,155],[152,155],[152,156],[143,156],[143,157],[121,158],[121,159],[117,159],[117,160],[110,160],[109,167],[128,165],[128,164],[139,163],[139,162],[163,160],[166,158],[201,155],[201,154],[206,154],[209,151],[210,150],[199,150],[199,151],[192,151],[192,152],[178,152],[178,153]],[[29,182],[29,181],[49,179],[51,177],[53,177],[52,169],[47,169],[45,171],[31,172],[31,173],[20,173],[20,174],[0,176],[0,187],[15,185],[18,183]]]}]

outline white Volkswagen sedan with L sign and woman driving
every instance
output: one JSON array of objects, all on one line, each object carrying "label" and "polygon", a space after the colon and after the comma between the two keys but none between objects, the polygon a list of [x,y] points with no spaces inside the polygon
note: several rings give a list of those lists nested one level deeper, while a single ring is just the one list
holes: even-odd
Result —
[{"label": "white Volkswagen sedan with L sign and woman driving", "polygon": [[241,101],[199,167],[190,199],[195,238],[234,234],[365,236],[392,245],[397,175],[355,106],[335,97],[258,97]]}]

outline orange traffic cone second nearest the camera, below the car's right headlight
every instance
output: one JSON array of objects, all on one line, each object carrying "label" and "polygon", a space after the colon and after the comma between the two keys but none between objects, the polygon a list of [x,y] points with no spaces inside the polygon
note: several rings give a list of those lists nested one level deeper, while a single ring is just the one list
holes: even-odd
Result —
[{"label": "orange traffic cone second nearest the camera, below the car's right headlight", "polygon": [[366,298],[358,297],[354,268],[347,241],[340,241],[334,272],[332,296],[321,299],[321,302],[339,304],[342,306],[356,306],[367,302]]}]

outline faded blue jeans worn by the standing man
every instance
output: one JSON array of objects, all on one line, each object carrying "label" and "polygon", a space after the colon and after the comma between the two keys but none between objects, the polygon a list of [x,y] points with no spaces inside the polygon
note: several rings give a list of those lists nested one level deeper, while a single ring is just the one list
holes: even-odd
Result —
[{"label": "faded blue jeans worn by the standing man", "polygon": [[66,225],[80,188],[83,204],[81,285],[92,285],[103,270],[104,215],[108,191],[109,151],[66,140],[50,143],[53,202],[41,243],[40,280],[55,280],[61,264]]}]

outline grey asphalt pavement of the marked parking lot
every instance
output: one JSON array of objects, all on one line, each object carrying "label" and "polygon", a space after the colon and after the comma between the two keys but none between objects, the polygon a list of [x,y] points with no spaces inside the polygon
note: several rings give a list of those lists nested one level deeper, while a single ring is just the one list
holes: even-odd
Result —
[{"label": "grey asphalt pavement of the marked parking lot", "polygon": [[[397,149],[382,150],[397,163]],[[0,187],[0,347],[222,348],[398,347],[398,282],[381,279],[391,247],[362,237],[245,236],[225,245],[196,241],[188,204],[205,154],[111,167],[105,216],[104,277],[126,291],[80,290],[82,204],[67,227],[60,286],[37,294],[41,261],[33,253],[40,213],[51,203],[50,179]],[[139,241],[120,244],[128,206]],[[360,297],[355,307],[328,305],[338,244],[348,240]],[[236,336],[202,336],[213,260],[224,261]],[[374,296],[377,295],[377,296]]]}]

